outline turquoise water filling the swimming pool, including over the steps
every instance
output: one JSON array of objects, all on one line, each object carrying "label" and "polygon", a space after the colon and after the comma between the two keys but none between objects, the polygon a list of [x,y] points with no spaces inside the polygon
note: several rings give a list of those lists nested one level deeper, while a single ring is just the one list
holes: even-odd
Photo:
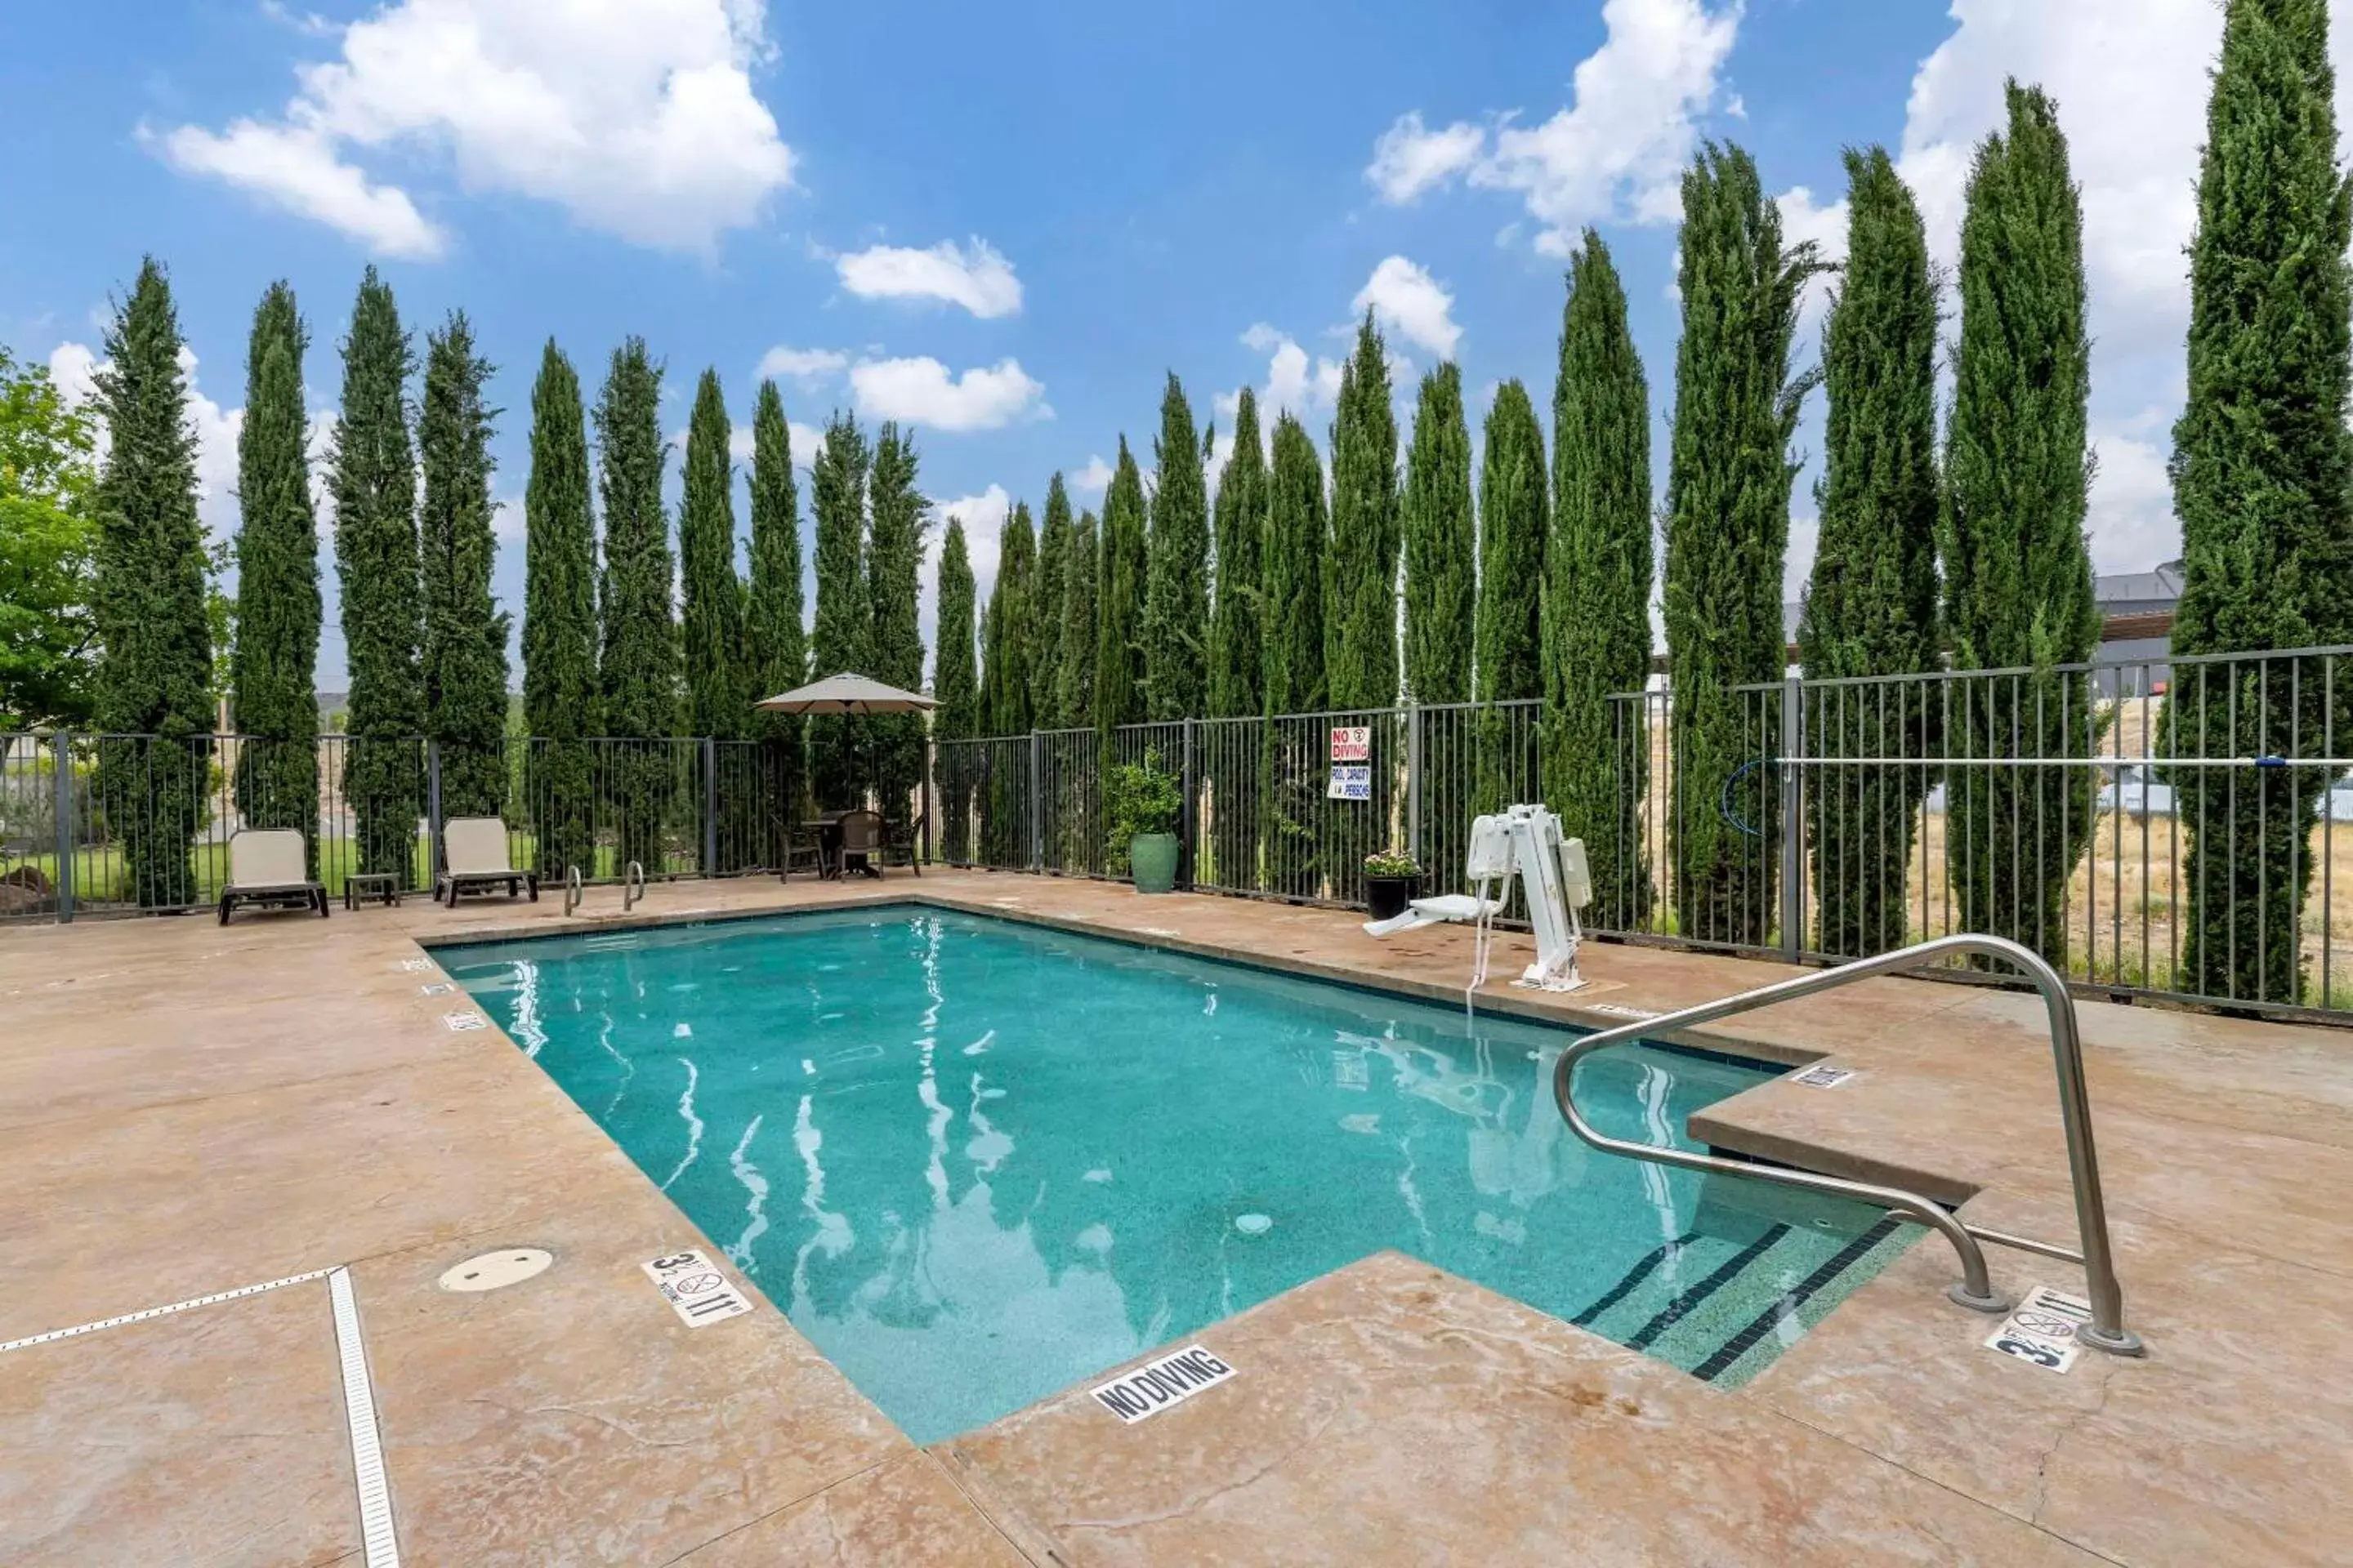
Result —
[{"label": "turquoise water filling the swimming pool, including over the steps", "polygon": [[[894,907],[435,957],[920,1443],[1379,1248],[1741,1382],[1906,1241],[1588,1150],[1560,1030],[1151,947]],[[1765,1077],[1577,1088],[1682,1143]]]}]

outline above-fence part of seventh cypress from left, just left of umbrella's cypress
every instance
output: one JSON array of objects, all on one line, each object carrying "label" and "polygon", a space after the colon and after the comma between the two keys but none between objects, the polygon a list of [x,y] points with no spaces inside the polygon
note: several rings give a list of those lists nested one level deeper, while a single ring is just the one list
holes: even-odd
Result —
[{"label": "above-fence part of seventh cypress from left, just left of umbrella's cypress", "polygon": [[[744,679],[744,583],[734,571],[734,425],[720,376],[706,369],[687,416],[687,465],[678,498],[678,576],[685,590],[680,651],[687,675],[687,733],[739,738],[751,722]],[[762,693],[767,696],[767,693]]]}]

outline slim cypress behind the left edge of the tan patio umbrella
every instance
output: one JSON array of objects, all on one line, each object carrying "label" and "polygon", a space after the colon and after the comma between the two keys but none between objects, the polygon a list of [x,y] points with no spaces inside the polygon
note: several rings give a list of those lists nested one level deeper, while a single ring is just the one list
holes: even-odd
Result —
[{"label": "slim cypress behind the left edge of the tan patio umbrella", "polygon": [[[774,381],[760,383],[751,416],[751,602],[744,635],[753,701],[809,679],[809,637],[800,623],[800,482],[793,477],[793,428]],[[765,741],[765,842],[769,863],[781,865],[784,835],[800,823],[809,790],[809,724],[798,712],[762,712],[753,733]]]}]

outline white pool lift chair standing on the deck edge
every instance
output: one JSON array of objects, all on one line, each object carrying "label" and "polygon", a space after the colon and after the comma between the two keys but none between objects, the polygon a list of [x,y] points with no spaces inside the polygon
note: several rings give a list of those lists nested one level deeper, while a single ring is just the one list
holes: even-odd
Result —
[{"label": "white pool lift chair standing on the deck edge", "polygon": [[[1487,954],[1494,947],[1494,917],[1511,898],[1511,879],[1527,891],[1527,924],[1537,936],[1537,961],[1513,985],[1546,992],[1584,987],[1577,973],[1577,947],[1584,926],[1577,912],[1593,903],[1593,875],[1586,870],[1586,842],[1560,832],[1560,818],[1539,806],[1511,806],[1471,823],[1471,853],[1464,879],[1478,893],[1442,893],[1417,898],[1395,919],[1365,922],[1372,936],[1395,936],[1442,922],[1471,922],[1475,931],[1471,985],[1487,983]],[[1489,898],[1489,889],[1494,896]]]}]

